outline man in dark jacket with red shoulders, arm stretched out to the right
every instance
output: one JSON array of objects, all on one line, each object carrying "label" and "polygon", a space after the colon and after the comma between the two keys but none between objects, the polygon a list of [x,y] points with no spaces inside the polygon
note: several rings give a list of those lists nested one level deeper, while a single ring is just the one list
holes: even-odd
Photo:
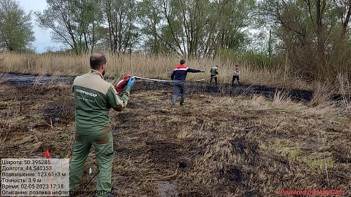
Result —
[{"label": "man in dark jacket with red shoulders, arm stretched out to the right", "polygon": [[172,97],[172,106],[176,106],[176,99],[180,89],[180,105],[184,104],[185,99],[185,78],[188,72],[205,72],[204,70],[190,69],[186,67],[185,60],[180,60],[180,64],[173,70],[171,74],[172,81],[174,80],[174,89]]}]

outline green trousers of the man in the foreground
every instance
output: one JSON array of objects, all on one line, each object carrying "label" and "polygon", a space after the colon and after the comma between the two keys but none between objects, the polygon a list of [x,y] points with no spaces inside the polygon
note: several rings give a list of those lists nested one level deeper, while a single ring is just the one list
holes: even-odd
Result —
[{"label": "green trousers of the man in the foreground", "polygon": [[[96,184],[98,196],[111,193],[111,174],[113,161],[112,132],[102,135],[77,135],[72,150],[72,161],[69,167],[69,191],[76,191],[81,184],[84,163],[91,149],[95,147],[95,155],[99,162],[99,177]],[[84,191],[84,189],[82,189]]]}]

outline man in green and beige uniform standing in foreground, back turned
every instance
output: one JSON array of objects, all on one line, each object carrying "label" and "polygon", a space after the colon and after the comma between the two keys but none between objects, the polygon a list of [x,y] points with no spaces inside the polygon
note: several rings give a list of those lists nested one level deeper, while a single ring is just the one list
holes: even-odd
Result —
[{"label": "man in green and beige uniform standing in foreground, back turned", "polygon": [[100,169],[96,184],[98,196],[109,196],[111,193],[114,150],[108,114],[111,107],[116,111],[122,111],[126,107],[135,78],[131,77],[125,90],[117,95],[114,86],[103,78],[106,63],[105,55],[94,53],[90,57],[89,72],[77,76],[73,82],[76,134],[69,167],[69,191],[72,193],[77,191],[81,184],[84,163],[92,144]]}]

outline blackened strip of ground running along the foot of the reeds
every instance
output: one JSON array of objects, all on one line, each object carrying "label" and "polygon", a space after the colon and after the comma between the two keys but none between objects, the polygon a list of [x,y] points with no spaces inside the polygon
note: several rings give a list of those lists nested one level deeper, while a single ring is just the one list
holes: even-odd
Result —
[{"label": "blackened strip of ground running along the foot of the reeds", "polygon": [[[73,83],[74,77],[72,76],[39,76],[34,74],[18,74],[18,73],[0,73],[0,82],[9,83],[14,85],[32,85],[32,84],[55,84],[55,83]],[[117,79],[107,79],[117,83]],[[159,81],[144,81],[137,79],[135,84],[139,84],[140,88],[144,90],[161,90],[164,88],[172,88],[171,82]],[[283,89],[283,88],[270,88],[265,86],[252,86],[249,84],[241,83],[240,86],[230,84],[208,84],[204,82],[187,82],[187,94],[207,93],[210,95],[226,95],[236,97],[238,95],[263,95],[264,97],[273,99],[274,95],[278,92],[286,93],[286,96],[291,100],[309,102],[312,100],[312,90],[298,90],[298,89]],[[335,99],[340,99],[340,95],[334,95]]]}]

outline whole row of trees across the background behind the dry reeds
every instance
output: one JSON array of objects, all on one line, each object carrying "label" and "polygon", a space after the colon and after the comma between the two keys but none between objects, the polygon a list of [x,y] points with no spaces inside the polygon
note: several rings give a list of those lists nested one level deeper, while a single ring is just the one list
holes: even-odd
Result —
[{"label": "whole row of trees across the background behind the dry reeds", "polygon": [[[13,0],[0,2],[4,32],[4,5]],[[30,14],[39,27],[52,30],[54,41],[76,54],[105,49],[117,54],[223,57],[232,62],[250,57],[257,60],[256,67],[284,66],[307,79],[351,76],[350,0],[46,2],[45,11]],[[262,40],[253,42],[258,35]],[[13,50],[4,39],[1,48]]]}]

